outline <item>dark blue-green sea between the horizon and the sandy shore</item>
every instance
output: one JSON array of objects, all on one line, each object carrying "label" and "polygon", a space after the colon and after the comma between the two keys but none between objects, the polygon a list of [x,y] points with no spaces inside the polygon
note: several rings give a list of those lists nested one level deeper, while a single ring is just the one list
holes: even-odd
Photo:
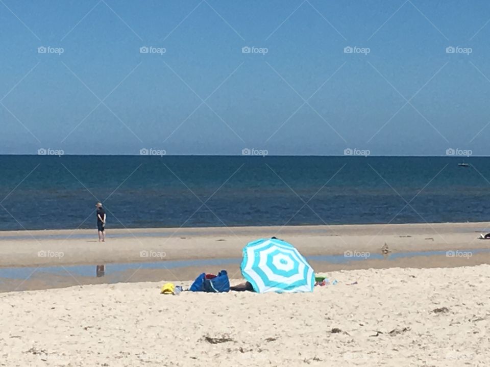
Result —
[{"label": "dark blue-green sea between the horizon and the sandy shore", "polygon": [[[490,219],[490,159],[0,156],[0,230]],[[408,204],[407,204],[408,203]]]}]

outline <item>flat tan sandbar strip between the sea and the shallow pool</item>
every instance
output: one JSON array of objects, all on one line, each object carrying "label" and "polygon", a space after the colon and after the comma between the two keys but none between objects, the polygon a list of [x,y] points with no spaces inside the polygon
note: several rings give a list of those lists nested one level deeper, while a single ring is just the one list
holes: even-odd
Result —
[{"label": "flat tan sandbar strip between the sea and the shallow pool", "polygon": [[393,253],[490,248],[490,240],[477,239],[479,232],[490,231],[486,226],[488,223],[109,228],[105,243],[97,242],[95,230],[12,231],[0,233],[0,267],[241,257],[248,242],[273,235],[295,245],[304,256],[381,253],[384,243]]}]

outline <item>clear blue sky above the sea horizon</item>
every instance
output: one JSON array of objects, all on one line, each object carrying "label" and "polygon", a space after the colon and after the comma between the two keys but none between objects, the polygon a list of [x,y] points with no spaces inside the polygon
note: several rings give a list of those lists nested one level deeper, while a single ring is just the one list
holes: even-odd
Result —
[{"label": "clear blue sky above the sea horizon", "polygon": [[2,2],[0,153],[490,154],[485,1]]}]

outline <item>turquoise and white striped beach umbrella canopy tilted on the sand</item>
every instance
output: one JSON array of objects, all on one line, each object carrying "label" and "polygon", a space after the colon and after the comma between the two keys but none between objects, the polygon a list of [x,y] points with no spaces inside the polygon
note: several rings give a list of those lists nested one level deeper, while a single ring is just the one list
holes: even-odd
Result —
[{"label": "turquoise and white striped beach umbrella canopy tilted on the sand", "polygon": [[313,292],[315,273],[299,251],[287,242],[261,239],[243,248],[241,274],[254,291]]}]

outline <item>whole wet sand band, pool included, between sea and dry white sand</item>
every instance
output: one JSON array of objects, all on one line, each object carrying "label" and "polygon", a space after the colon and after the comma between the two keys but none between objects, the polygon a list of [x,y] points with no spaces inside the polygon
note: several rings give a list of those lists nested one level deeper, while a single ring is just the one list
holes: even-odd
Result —
[{"label": "whole wet sand band, pool included, between sea and dry white sand", "polygon": [[[486,232],[486,225],[114,229],[109,230],[105,243],[96,242],[93,230],[0,232],[0,292],[188,281],[201,272],[216,274],[221,269],[239,277],[243,246],[273,235],[295,245],[316,272],[490,264],[490,241],[477,239],[480,232]],[[386,255],[381,251],[385,243],[390,251]],[[453,256],[447,251],[453,251]],[[95,268],[100,264],[106,265],[107,272],[97,278]],[[14,275],[9,270],[12,267],[17,269]],[[19,273],[22,268],[26,271]]]}]

